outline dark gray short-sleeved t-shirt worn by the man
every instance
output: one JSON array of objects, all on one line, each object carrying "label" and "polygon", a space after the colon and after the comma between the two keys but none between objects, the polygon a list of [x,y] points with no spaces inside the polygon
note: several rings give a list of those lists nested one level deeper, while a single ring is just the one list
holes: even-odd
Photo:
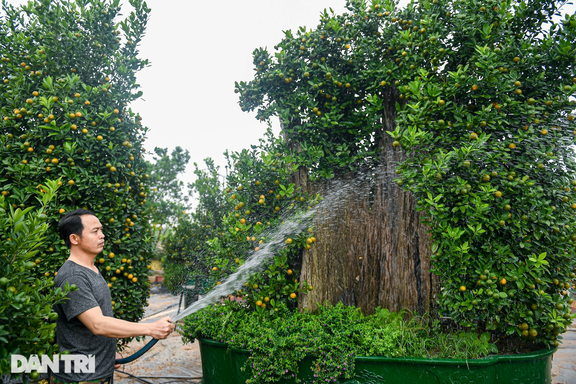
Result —
[{"label": "dark gray short-sleeved t-shirt worn by the man", "polygon": [[54,305],[58,313],[56,320],[56,342],[60,344],[60,351],[66,349],[70,354],[94,355],[94,373],[64,372],[64,362],[60,360],[60,372],[54,376],[65,382],[89,381],[111,377],[114,373],[116,358],[116,339],[97,336],[81,321],[77,315],[94,307],[100,307],[104,316],[113,317],[112,299],[110,289],[100,272],[82,267],[74,261],[66,261],[58,270],[55,287],[64,288],[66,282],[76,284],[77,291],[69,292],[61,303]]}]

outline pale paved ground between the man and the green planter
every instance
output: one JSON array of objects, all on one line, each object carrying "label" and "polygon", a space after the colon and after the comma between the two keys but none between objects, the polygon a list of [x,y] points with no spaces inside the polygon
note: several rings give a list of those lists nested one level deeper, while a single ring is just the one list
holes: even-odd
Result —
[{"label": "pale paved ground between the man and the green planter", "polygon": [[[151,291],[150,305],[146,308],[143,322],[153,322],[172,313],[178,298],[158,287]],[[174,306],[172,308],[168,308]],[[124,356],[138,351],[146,341],[132,341]],[[198,342],[183,344],[180,334],[174,332],[168,339],[160,340],[142,358],[125,364],[119,370],[138,376],[141,380],[116,372],[116,384],[167,384],[172,382],[199,383],[202,362]],[[552,360],[552,384],[576,384],[576,324],[564,334],[563,343]]]}]

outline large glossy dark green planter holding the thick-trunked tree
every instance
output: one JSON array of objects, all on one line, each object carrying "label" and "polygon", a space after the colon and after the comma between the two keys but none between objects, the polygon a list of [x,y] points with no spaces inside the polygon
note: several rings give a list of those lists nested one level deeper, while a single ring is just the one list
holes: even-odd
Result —
[{"label": "large glossy dark green planter holding the thick-trunked tree", "polygon": [[[228,348],[225,343],[198,339],[202,356],[203,384],[244,384],[251,374],[247,349]],[[552,353],[542,349],[518,355],[490,355],[482,359],[384,358],[358,356],[354,378],[342,384],[550,384]],[[298,364],[298,378],[312,383],[313,358]],[[241,368],[246,368],[241,370]],[[294,379],[278,383],[294,383]]]}]

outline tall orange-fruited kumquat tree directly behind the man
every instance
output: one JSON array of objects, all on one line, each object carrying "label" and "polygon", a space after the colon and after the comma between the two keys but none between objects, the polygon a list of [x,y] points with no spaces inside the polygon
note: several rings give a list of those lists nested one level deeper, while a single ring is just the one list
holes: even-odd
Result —
[{"label": "tall orange-fruited kumquat tree directly behind the man", "polygon": [[[115,316],[138,321],[149,296],[153,245],[141,156],[147,128],[127,104],[141,96],[134,74],[147,61],[136,57],[136,46],[149,9],[131,4],[134,12],[118,24],[118,1],[3,4],[0,191],[3,217],[9,209],[42,207],[44,181],[60,180],[58,196],[44,208],[50,227],[28,272],[41,281],[52,279],[67,258],[56,226],[60,217],[76,208],[95,212],[107,237],[96,265],[111,289]],[[11,280],[16,272],[3,273]],[[21,340],[22,352],[33,337]],[[16,349],[7,353],[18,348],[9,346]]]}]

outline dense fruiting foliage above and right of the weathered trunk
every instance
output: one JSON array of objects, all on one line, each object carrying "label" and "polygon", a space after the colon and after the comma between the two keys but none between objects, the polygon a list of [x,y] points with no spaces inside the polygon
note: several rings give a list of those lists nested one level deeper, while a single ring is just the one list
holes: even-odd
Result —
[{"label": "dense fruiting foliage above and right of the weathered trunk", "polygon": [[241,108],[278,115],[312,177],[386,157],[377,143],[394,140],[397,182],[431,227],[442,311],[558,344],[575,267],[576,19],[554,24],[544,0],[347,8],[286,31],[274,55],[255,50]]}]

